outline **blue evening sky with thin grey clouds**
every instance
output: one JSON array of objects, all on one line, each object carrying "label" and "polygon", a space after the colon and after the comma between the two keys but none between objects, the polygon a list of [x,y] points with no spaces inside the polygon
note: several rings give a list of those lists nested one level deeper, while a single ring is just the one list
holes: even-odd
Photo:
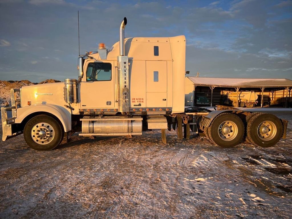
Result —
[{"label": "blue evening sky with thin grey clouds", "polygon": [[292,1],[0,0],[0,80],[77,78],[80,53],[186,36],[189,76],[292,79]]}]

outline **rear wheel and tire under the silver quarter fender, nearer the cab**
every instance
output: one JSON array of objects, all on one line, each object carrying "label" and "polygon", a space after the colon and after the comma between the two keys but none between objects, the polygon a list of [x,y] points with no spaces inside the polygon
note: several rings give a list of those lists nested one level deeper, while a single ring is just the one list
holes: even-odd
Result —
[{"label": "rear wheel and tire under the silver quarter fender, nearer the cab", "polygon": [[234,147],[243,138],[244,124],[237,115],[222,113],[213,119],[207,133],[214,144],[225,148]]}]

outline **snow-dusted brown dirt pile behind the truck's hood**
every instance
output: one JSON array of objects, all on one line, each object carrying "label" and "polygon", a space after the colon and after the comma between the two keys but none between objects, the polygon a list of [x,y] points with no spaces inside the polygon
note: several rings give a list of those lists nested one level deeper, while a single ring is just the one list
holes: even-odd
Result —
[{"label": "snow-dusted brown dirt pile behind the truck's hood", "polygon": [[1,81],[0,80],[0,106],[9,106],[11,104],[11,96],[10,90],[13,89],[20,89],[22,86],[27,85],[34,85],[34,84],[45,84],[45,83],[56,83],[61,82],[54,79],[47,79],[40,83],[32,83],[28,80],[21,80],[21,81]]}]

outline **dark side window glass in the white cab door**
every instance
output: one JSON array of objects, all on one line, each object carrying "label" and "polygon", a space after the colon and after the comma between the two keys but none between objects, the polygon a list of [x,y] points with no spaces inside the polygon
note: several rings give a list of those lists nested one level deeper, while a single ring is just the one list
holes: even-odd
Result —
[{"label": "dark side window glass in the white cab door", "polygon": [[112,64],[105,62],[91,62],[87,66],[86,81],[111,81]]}]

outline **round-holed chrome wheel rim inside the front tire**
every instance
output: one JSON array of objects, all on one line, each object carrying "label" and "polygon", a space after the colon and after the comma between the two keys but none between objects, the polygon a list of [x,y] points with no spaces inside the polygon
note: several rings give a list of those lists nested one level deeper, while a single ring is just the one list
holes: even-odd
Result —
[{"label": "round-holed chrome wheel rim inside the front tire", "polygon": [[32,128],[31,136],[34,142],[39,145],[46,145],[54,139],[55,131],[50,124],[40,122]]}]

